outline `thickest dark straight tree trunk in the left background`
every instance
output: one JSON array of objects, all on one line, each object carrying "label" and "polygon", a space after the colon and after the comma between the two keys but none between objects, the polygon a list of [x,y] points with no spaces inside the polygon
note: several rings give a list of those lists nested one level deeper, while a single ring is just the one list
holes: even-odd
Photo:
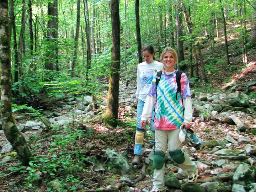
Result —
[{"label": "thickest dark straight tree trunk in the left background", "polygon": [[58,0],[48,2],[48,16],[50,18],[47,24],[48,50],[44,68],[58,71]]}]

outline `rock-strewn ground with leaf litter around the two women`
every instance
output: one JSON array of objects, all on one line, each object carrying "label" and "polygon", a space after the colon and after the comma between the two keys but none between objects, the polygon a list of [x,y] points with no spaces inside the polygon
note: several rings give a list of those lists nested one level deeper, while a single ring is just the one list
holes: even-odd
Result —
[{"label": "rock-strewn ground with leaf litter around the two women", "polygon": [[[196,183],[187,183],[187,173],[167,153],[165,191],[256,192],[256,101],[236,91],[233,85],[229,88],[213,94],[192,90],[194,119],[191,127],[204,143],[199,150],[186,146],[183,150],[198,165],[199,177]],[[144,139],[143,163],[137,167],[131,166],[136,117],[135,91],[135,87],[120,86],[121,125],[117,128],[103,124],[102,113],[106,105],[93,110],[91,96],[85,96],[82,101],[58,103],[51,110],[42,111],[43,118],[15,113],[17,127],[28,140],[33,155],[54,154],[60,158],[61,150],[74,151],[85,156],[85,167],[84,170],[73,167],[71,174],[80,177],[75,185],[67,179],[59,180],[39,170],[37,179],[33,181],[34,187],[24,187],[22,182],[26,174],[11,173],[7,169],[18,161],[3,130],[0,130],[0,191],[149,192],[153,187],[154,171],[154,145],[150,143],[150,132]],[[106,89],[103,93],[107,95]],[[106,103],[106,97],[101,102]],[[57,143],[58,137],[65,141],[68,135],[66,130],[83,130],[86,134],[76,135],[68,143]],[[75,156],[65,158],[82,161]],[[70,169],[69,165],[58,166],[64,171]],[[58,171],[55,175],[58,175]],[[44,184],[44,181],[49,182]]]}]

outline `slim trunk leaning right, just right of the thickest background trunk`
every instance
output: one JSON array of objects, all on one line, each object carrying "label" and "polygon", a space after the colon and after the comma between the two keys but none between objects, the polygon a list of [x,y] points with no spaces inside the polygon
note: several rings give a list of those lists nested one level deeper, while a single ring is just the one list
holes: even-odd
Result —
[{"label": "slim trunk leaning right, just right of the thickest background trunk", "polygon": [[72,70],[71,75],[72,77],[75,77],[75,67],[78,64],[78,40],[79,40],[79,28],[80,28],[80,2],[81,0],[78,0],[77,4],[77,15],[76,15],[76,34],[75,34],[75,48],[74,48],[74,58],[72,62]]}]

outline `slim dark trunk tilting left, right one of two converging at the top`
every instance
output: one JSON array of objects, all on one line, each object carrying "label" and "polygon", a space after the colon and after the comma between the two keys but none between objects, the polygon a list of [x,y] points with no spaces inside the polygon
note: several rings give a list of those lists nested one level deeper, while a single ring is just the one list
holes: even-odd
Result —
[{"label": "slim dark trunk tilting left, right one of two converging at the top", "polygon": [[84,14],[85,14],[85,33],[86,33],[86,44],[87,44],[87,62],[86,62],[86,78],[87,78],[88,71],[91,69],[90,20],[89,20],[87,0],[84,0]]}]

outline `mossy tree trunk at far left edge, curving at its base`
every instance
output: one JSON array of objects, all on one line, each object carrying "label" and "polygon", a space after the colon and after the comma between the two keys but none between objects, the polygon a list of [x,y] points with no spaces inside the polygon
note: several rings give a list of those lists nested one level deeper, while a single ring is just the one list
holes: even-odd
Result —
[{"label": "mossy tree trunk at far left edge, curving at its base", "polygon": [[0,1],[0,65],[1,65],[1,117],[7,140],[17,152],[24,166],[29,166],[31,153],[23,135],[17,129],[11,110],[11,49],[8,18],[8,0]]}]

